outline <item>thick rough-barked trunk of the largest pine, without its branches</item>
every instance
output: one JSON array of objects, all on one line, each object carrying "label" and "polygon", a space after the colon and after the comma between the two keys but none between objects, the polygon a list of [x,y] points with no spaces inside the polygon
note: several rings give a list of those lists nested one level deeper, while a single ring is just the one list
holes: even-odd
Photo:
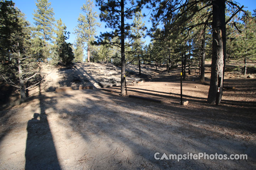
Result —
[{"label": "thick rough-barked trunk of the largest pine, without its branches", "polygon": [[[225,1],[214,0],[213,1],[213,54],[212,54],[212,70],[210,78],[210,88],[208,92],[207,103],[214,104],[215,101],[220,103],[222,98],[222,86],[223,86],[223,66],[224,66],[224,51],[223,51],[223,34],[225,30]],[[220,81],[220,82],[218,82]],[[219,95],[218,95],[218,84]]]}]

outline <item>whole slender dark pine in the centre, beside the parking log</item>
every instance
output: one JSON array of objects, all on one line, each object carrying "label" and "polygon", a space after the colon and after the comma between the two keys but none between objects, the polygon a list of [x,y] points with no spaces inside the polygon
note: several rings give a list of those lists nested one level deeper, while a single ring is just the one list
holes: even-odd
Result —
[{"label": "whole slender dark pine in the centre, beside the parking log", "polygon": [[[98,44],[110,44],[121,48],[121,94],[124,95],[124,74],[125,74],[125,48],[131,46],[125,45],[125,39],[131,38],[130,28],[133,24],[128,23],[128,19],[132,19],[134,14],[141,10],[142,1],[133,0],[96,0],[100,6],[101,21],[106,22],[106,28],[112,28],[111,32],[106,32],[98,37]],[[125,22],[126,21],[126,22]],[[112,41],[114,38],[119,41]]]}]

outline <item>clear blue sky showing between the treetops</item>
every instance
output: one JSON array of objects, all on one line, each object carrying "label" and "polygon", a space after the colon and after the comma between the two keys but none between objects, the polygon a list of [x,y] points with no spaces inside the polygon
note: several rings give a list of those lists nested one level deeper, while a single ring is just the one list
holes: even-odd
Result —
[{"label": "clear blue sky showing between the treetops", "polygon": [[[13,0],[15,6],[18,7],[23,13],[25,13],[27,20],[33,24],[33,13],[36,10],[36,0]],[[51,6],[55,13],[55,19],[61,18],[67,27],[67,31],[70,32],[70,38],[67,40],[70,43],[73,43],[75,40],[75,35],[73,34],[74,28],[77,25],[77,18],[79,17],[79,13],[82,13],[81,6],[85,3],[85,0],[48,0],[51,2]],[[245,10],[249,10],[253,13],[253,10],[256,9],[256,0],[236,0],[241,5],[244,5],[247,8]],[[96,12],[99,14],[100,11],[98,7],[95,6]],[[143,9],[143,13],[148,14],[148,10]],[[146,22],[145,26],[150,28],[151,23],[148,22],[149,15],[143,19]],[[100,20],[98,20],[100,22]],[[101,23],[101,28],[98,28],[97,34],[100,32],[106,32],[105,23]],[[150,42],[150,38],[146,37],[145,43],[148,44]]]}]

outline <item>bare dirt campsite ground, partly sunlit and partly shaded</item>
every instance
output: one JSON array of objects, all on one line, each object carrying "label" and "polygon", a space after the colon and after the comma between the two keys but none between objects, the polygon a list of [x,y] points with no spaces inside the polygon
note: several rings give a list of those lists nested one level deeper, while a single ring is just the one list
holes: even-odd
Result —
[{"label": "bare dirt campsite ground, partly sunlit and partly shaded", "polygon": [[[183,81],[183,100],[189,103],[180,106],[179,72],[157,72],[127,86],[128,95],[161,104],[119,96],[120,87],[114,86],[107,88],[113,93],[40,91],[0,111],[0,169],[255,169],[256,79],[228,74],[225,85],[236,89],[224,90],[222,103],[214,106],[206,104],[209,86],[189,75]],[[94,84],[100,78],[81,79]],[[156,152],[247,154],[248,159],[177,162],[155,160]]]}]

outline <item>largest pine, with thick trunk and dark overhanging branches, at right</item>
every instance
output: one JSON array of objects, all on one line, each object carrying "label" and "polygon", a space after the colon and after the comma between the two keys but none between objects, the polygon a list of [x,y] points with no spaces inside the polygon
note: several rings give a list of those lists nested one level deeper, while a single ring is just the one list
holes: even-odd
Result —
[{"label": "largest pine, with thick trunk and dark overhanging branches, at right", "polygon": [[[212,26],[212,69],[207,103],[214,104],[217,101],[216,104],[218,104],[222,98],[224,64],[226,59],[226,23],[238,12],[243,11],[242,8],[244,6],[240,7],[236,2],[228,0],[212,0],[207,1],[205,5],[200,7],[199,4],[202,2],[205,1],[156,0],[151,2],[151,5],[155,7],[153,9],[153,28],[157,28],[159,22],[161,22],[165,24],[166,33],[170,33],[174,29],[188,30],[189,33],[194,27],[200,25],[210,24]],[[231,16],[227,20],[225,20],[225,3],[228,4],[231,11]],[[200,15],[199,12],[207,7],[211,7],[212,10]],[[198,24],[180,28],[181,23],[176,22],[187,22],[194,17],[207,18],[208,16],[213,17],[211,23],[202,21]]]}]

